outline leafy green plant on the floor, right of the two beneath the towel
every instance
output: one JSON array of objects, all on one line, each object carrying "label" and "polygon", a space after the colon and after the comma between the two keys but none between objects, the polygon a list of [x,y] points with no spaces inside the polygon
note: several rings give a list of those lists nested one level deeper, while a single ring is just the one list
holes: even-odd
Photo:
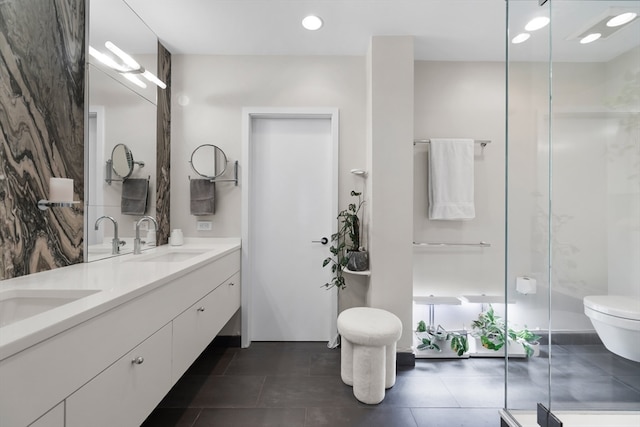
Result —
[{"label": "leafy green plant on the floor, right of the two beneath the towel", "polygon": [[[471,324],[471,335],[480,340],[480,344],[487,350],[497,352],[505,344],[511,353],[510,344],[519,343],[524,350],[526,357],[531,357],[536,353],[536,346],[539,335],[529,331],[526,327],[521,330],[507,328],[500,316],[496,315],[493,307],[489,304],[489,309],[478,315],[478,319]],[[517,354],[517,349],[514,349]]]}]

